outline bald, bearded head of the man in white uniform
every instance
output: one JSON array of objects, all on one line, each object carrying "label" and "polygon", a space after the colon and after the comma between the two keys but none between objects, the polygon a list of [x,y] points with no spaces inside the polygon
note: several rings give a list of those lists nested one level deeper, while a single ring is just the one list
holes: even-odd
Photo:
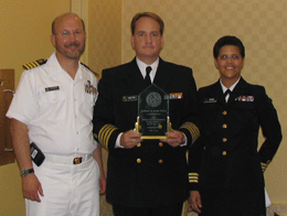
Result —
[{"label": "bald, bearded head of the man in white uniform", "polygon": [[82,20],[75,14],[60,17],[55,21],[51,41],[62,57],[78,60],[85,50],[86,33]]}]

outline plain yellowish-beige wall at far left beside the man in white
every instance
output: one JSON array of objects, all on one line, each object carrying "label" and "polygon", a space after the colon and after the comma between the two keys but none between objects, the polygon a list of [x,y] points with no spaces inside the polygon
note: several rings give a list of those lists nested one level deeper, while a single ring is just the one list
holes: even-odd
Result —
[{"label": "plain yellowish-beige wall at far left beside the man in white", "polygon": [[[0,1],[0,68],[14,68],[17,84],[22,64],[52,54],[51,23],[68,10],[70,0]],[[17,163],[0,166],[0,215],[24,215]]]}]

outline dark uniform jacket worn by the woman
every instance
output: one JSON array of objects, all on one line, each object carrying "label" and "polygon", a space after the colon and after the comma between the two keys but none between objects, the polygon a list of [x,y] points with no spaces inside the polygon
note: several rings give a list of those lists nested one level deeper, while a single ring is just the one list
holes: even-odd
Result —
[{"label": "dark uniform jacket worn by the woman", "polygon": [[[263,171],[281,141],[277,112],[265,88],[241,77],[227,104],[220,80],[200,88],[198,95],[203,134],[190,149],[191,190],[198,190],[199,184],[233,190],[263,187]],[[265,141],[258,151],[259,128]]]}]

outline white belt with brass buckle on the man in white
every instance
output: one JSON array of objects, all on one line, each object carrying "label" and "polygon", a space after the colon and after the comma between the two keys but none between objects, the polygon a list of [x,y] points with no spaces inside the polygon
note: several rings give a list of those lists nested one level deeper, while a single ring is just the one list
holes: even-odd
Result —
[{"label": "white belt with brass buckle on the man in white", "polygon": [[79,164],[89,160],[92,154],[83,155],[59,155],[59,154],[47,154],[45,153],[45,160],[52,163],[62,163],[62,164]]}]

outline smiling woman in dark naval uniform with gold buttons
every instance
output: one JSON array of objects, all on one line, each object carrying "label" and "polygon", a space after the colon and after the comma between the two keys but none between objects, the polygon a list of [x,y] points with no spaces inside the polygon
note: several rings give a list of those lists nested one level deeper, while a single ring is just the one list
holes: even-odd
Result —
[{"label": "smiling woman in dark naval uniform with gold buttons", "polygon": [[213,55],[221,78],[199,90],[203,136],[189,154],[190,204],[202,216],[264,216],[263,172],[281,141],[278,117],[265,88],[241,77],[241,40],[221,37]]}]

